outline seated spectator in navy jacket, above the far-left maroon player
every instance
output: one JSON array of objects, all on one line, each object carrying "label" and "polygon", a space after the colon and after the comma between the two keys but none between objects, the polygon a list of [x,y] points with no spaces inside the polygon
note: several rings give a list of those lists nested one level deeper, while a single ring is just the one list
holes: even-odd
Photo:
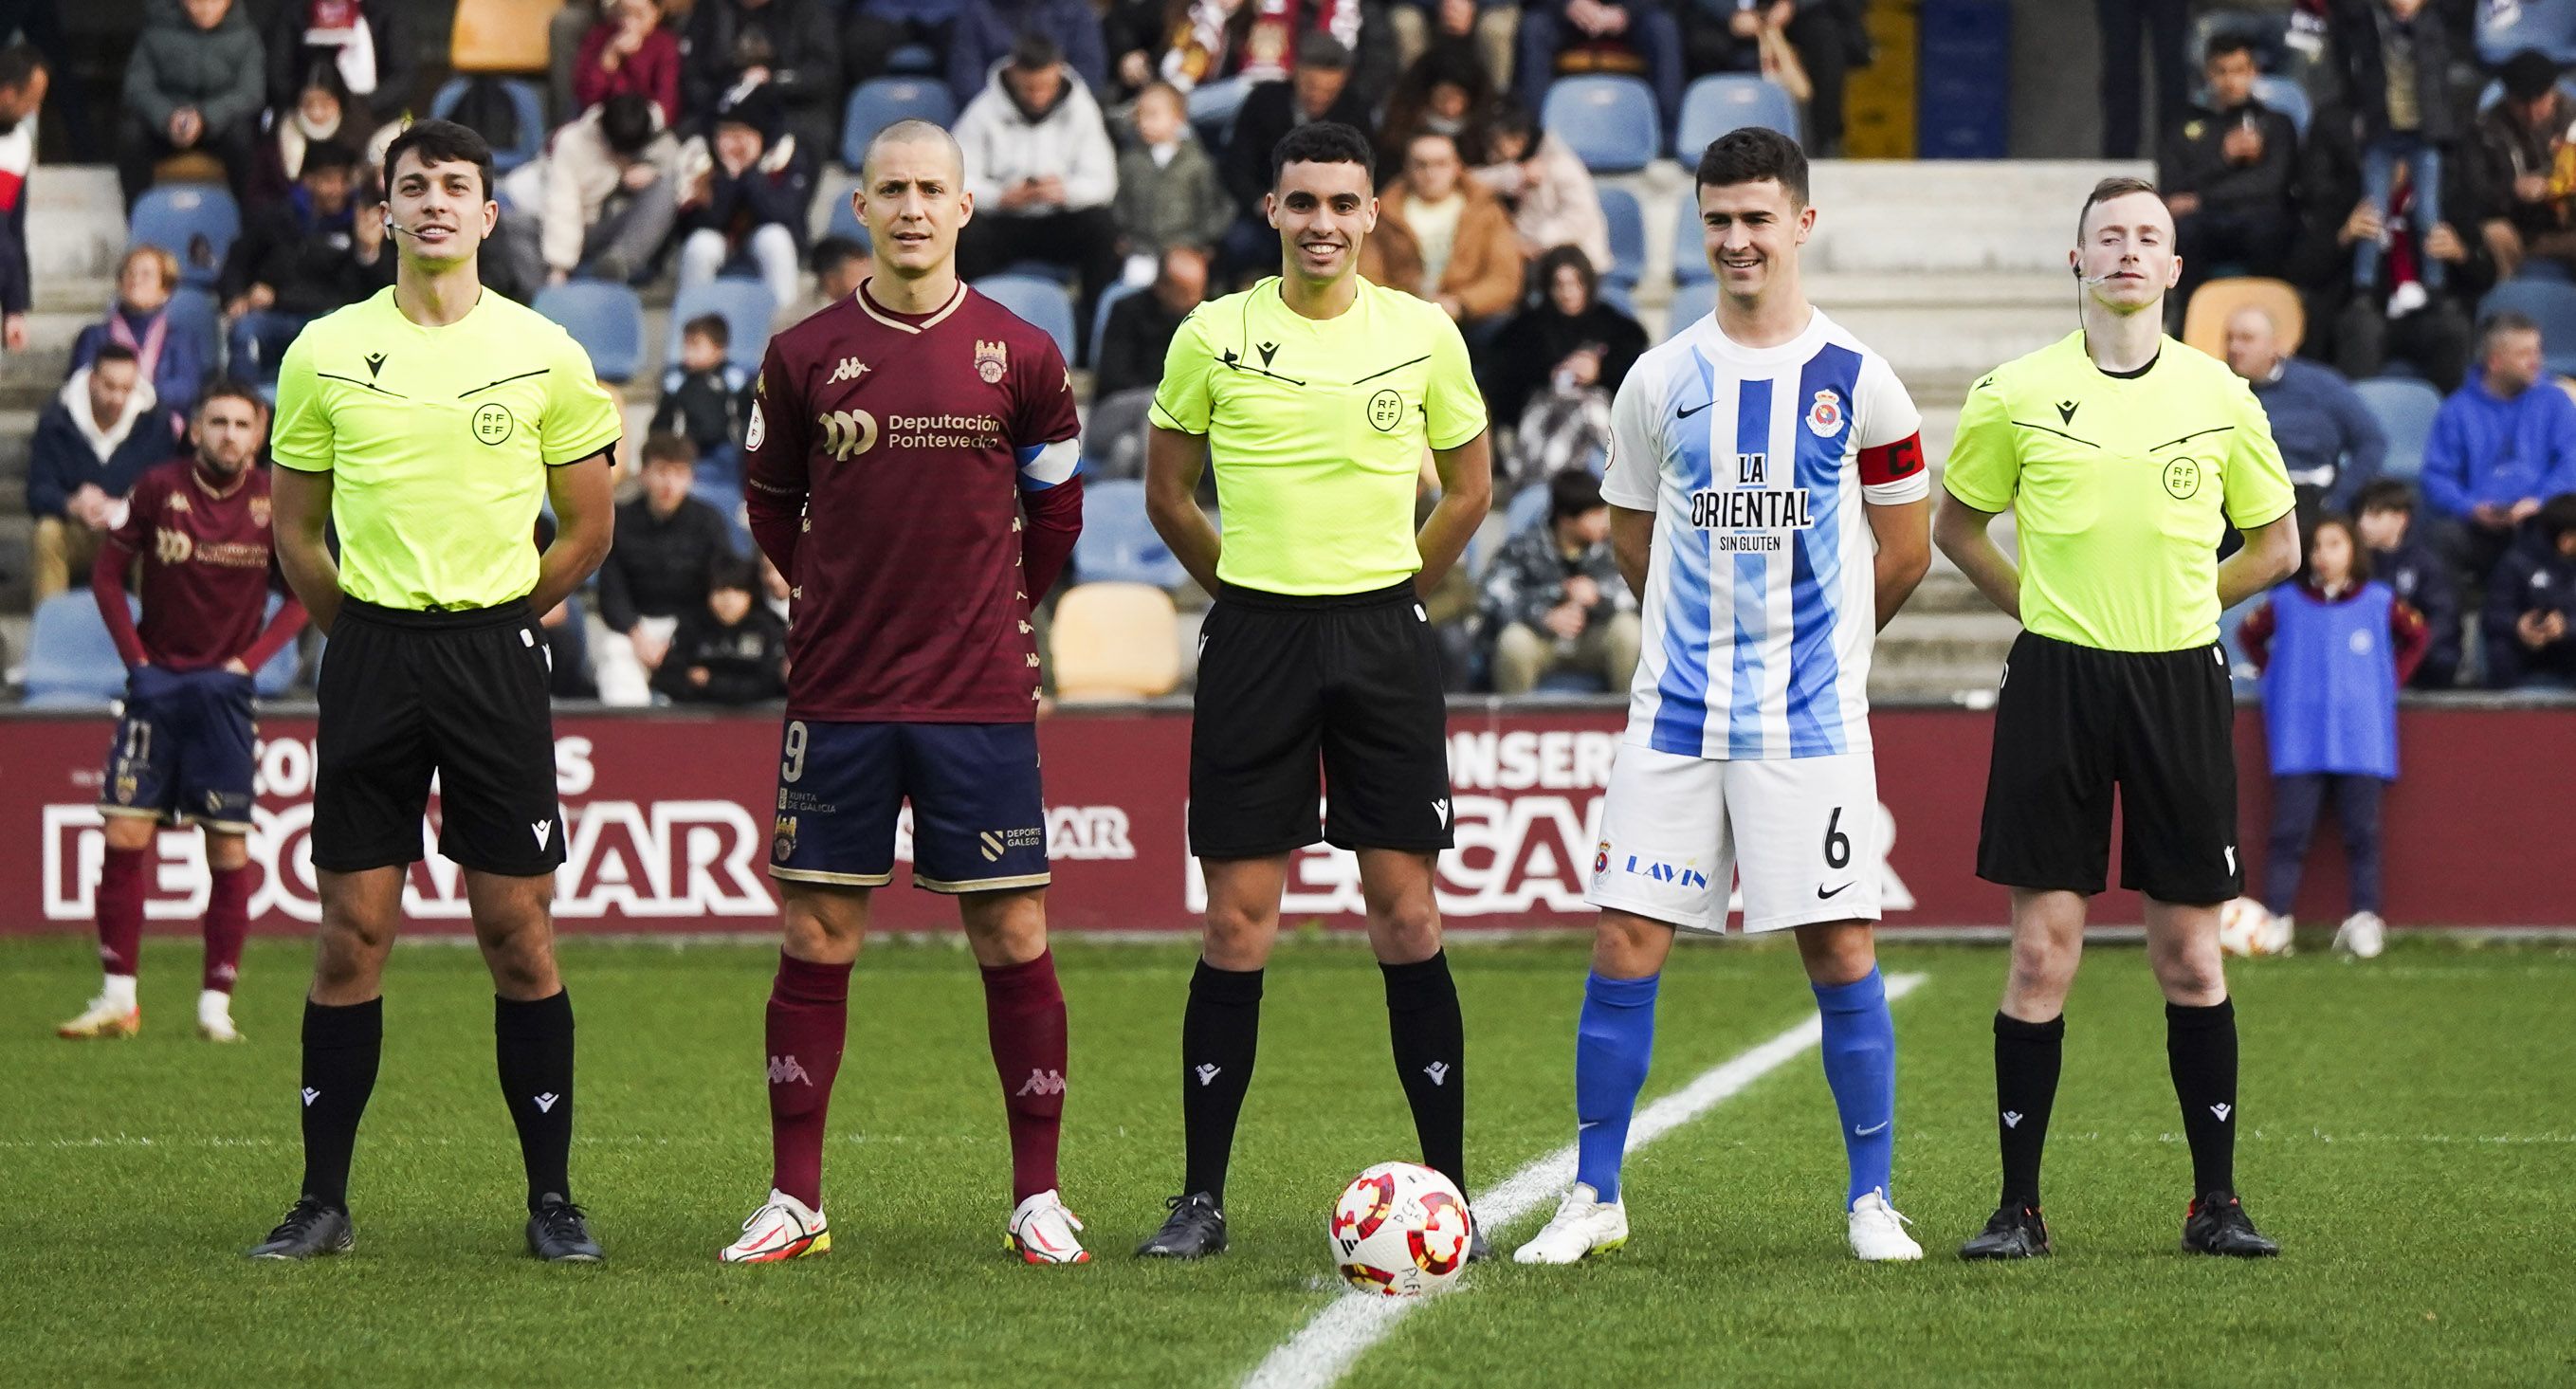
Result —
[{"label": "seated spectator in navy jacket, above the far-left maroon player", "polygon": [[28,441],[26,510],[36,518],[28,588],[36,603],[88,577],[98,544],[126,523],[126,492],[170,456],[178,415],[160,410],[134,348],[108,343],[54,394]]}]

